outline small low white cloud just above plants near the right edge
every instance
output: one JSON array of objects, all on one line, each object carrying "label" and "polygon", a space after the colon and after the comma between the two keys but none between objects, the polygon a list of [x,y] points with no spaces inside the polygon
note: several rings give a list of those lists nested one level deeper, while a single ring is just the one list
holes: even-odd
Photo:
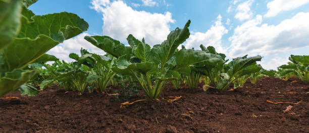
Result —
[{"label": "small low white cloud just above plants near the right edge", "polygon": [[261,61],[262,67],[266,70],[277,70],[277,68],[280,65],[287,64],[287,62],[289,62],[288,56],[286,57],[279,57],[279,56],[273,57],[272,56],[268,58],[272,58],[272,59],[268,62],[266,62],[264,59],[262,59]]}]

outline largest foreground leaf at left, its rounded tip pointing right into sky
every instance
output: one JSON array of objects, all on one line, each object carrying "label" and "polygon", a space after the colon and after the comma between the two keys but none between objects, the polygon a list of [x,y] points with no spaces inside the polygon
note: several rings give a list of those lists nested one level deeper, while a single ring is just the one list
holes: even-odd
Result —
[{"label": "largest foreground leaf at left, its rounded tip pointing right into sky", "polygon": [[[25,18],[23,18],[25,19]],[[0,54],[5,70],[23,69],[57,44],[87,30],[88,24],[71,13],[33,16],[24,21],[18,37]]]}]

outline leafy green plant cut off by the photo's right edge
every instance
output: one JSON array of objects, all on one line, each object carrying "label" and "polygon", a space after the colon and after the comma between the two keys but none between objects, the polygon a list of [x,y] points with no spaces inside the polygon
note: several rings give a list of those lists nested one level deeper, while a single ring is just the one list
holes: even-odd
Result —
[{"label": "leafy green plant cut off by the photo's right edge", "polygon": [[304,82],[309,82],[309,55],[291,55],[291,62],[279,66],[279,76],[287,80],[289,77],[296,76]]}]

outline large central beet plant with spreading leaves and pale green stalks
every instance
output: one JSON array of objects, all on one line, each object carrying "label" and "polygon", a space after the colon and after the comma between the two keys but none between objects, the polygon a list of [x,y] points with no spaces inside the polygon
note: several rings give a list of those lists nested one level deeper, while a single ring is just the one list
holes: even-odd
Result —
[{"label": "large central beet plant with spreading leaves and pale green stalks", "polygon": [[190,35],[189,25],[190,20],[183,29],[176,28],[171,31],[167,40],[152,48],[145,43],[144,39],[139,41],[133,35],[127,37],[130,46],[125,46],[108,36],[86,36],[85,39],[118,58],[112,70],[115,73],[135,77],[146,97],[156,99],[168,81],[180,80],[181,73],[190,73],[189,65],[221,59],[216,54],[201,50],[177,51],[177,47]]}]

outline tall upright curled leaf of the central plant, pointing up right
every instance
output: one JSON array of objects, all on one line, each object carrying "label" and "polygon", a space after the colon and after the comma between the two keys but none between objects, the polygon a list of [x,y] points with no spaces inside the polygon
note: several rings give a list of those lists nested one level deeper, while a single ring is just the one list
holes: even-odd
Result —
[{"label": "tall upright curled leaf of the central plant, pointing up right", "polygon": [[160,61],[163,66],[174,55],[177,47],[189,37],[190,32],[188,27],[190,26],[190,23],[191,21],[189,20],[183,29],[176,28],[171,31],[167,40],[152,47],[151,54],[155,59]]}]

